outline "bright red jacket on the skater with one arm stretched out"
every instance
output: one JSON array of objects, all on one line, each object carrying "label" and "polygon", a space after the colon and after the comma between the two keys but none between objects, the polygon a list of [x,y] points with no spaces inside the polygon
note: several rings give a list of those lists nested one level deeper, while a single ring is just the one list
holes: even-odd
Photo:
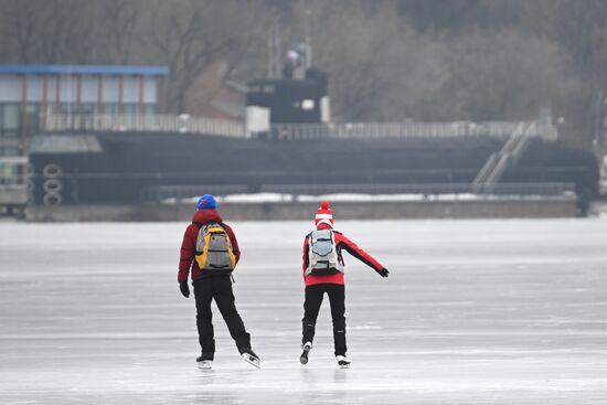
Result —
[{"label": "bright red jacket on the skater with one arm stretched out", "polygon": [[[319,230],[332,230],[331,226],[328,224],[320,224],[318,226]],[[303,241],[303,281],[306,283],[306,286],[313,286],[315,284],[341,284],[343,285],[343,273],[338,271],[332,275],[327,276],[315,276],[315,275],[308,275],[306,276],[306,268],[308,268],[308,253],[310,249],[310,242],[308,238],[309,235],[306,236],[306,239]],[[352,256],[368,265],[369,267],[375,269],[375,271],[380,271],[384,266],[382,266],[377,260],[375,260],[369,253],[364,252],[362,248],[360,248],[354,242],[350,241],[348,237],[345,237],[344,234],[338,231],[333,231],[333,237],[336,239],[336,249],[338,253],[338,256],[341,257],[341,251],[345,249],[348,253],[350,253]]]}]

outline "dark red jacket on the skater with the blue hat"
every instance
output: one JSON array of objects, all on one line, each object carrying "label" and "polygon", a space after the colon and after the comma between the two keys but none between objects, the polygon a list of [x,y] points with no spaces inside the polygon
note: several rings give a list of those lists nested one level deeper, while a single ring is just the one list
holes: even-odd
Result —
[{"label": "dark red jacket on the skater with the blue hat", "polygon": [[209,222],[220,223],[227,236],[230,236],[230,242],[232,242],[232,249],[236,256],[236,263],[241,259],[241,249],[238,248],[238,241],[236,241],[236,235],[234,231],[223,223],[221,214],[216,210],[199,210],[194,213],[192,217],[192,223],[185,228],[185,234],[183,235],[183,242],[181,243],[181,254],[179,257],[179,273],[177,275],[177,280],[179,283],[188,281],[188,275],[192,274],[192,280],[195,280],[202,277],[203,271],[201,271],[196,262],[194,260],[194,253],[196,249],[196,238],[199,235],[199,230],[201,226]]}]

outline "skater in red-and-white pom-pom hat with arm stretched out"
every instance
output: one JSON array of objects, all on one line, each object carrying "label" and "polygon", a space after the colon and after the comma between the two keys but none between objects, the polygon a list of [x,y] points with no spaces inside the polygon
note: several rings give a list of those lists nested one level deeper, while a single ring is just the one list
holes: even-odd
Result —
[{"label": "skater in red-and-white pom-pom hat with arm stretched out", "polygon": [[390,271],[375,260],[370,254],[360,248],[341,232],[333,230],[331,205],[322,202],[315,217],[316,231],[306,235],[303,241],[303,281],[306,284],[306,300],[303,302],[302,339],[303,352],[301,364],[308,363],[308,353],[312,349],[316,331],[316,320],[327,292],[331,305],[333,321],[334,354],[342,369],[350,366],[345,356],[345,287],[344,263],[342,251],[345,249],[362,263],[375,269],[382,277]]}]

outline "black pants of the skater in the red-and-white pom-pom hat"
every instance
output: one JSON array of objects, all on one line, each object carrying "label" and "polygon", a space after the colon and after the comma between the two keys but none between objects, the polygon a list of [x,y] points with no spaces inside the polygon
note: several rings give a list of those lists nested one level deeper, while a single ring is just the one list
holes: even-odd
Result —
[{"label": "black pants of the skater in the red-and-white pom-pom hat", "polygon": [[316,320],[322,303],[322,296],[327,292],[331,303],[331,319],[333,320],[333,342],[336,355],[345,355],[345,287],[339,284],[317,284],[306,287],[306,301],[303,302],[303,319],[301,343],[311,342],[315,339]]}]

